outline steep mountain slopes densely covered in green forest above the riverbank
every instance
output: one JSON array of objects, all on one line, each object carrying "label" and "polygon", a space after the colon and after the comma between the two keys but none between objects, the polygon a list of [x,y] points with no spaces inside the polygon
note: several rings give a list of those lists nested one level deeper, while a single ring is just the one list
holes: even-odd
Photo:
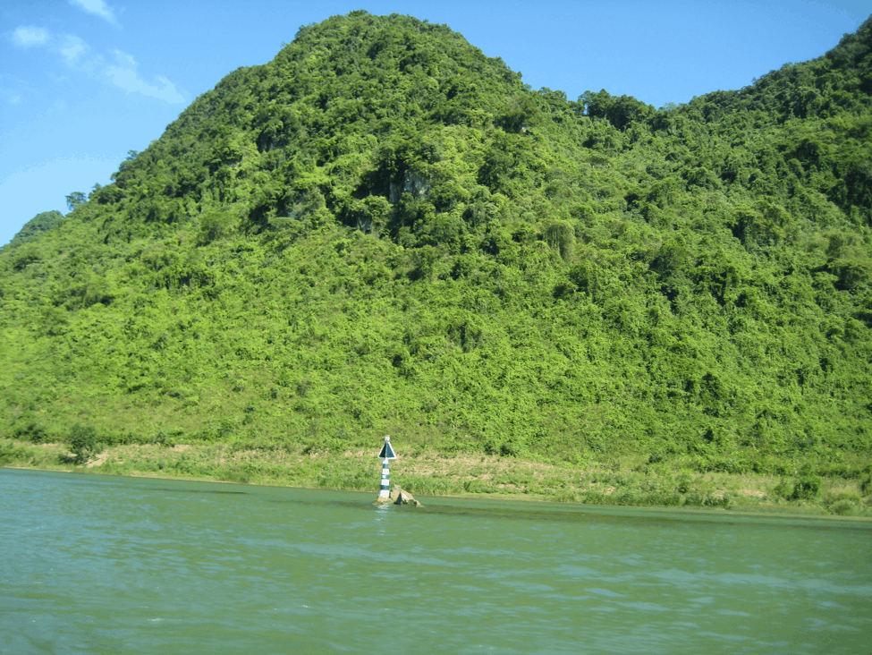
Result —
[{"label": "steep mountain slopes densely covered in green forest above the riverbank", "polygon": [[870,40],[656,110],[411,17],[301,28],[0,252],[0,432],[868,453]]}]

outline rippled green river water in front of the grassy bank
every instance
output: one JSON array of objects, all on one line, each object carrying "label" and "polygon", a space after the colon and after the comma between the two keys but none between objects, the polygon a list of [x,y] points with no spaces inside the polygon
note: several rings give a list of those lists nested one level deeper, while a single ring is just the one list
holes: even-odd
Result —
[{"label": "rippled green river water in front of the grassy bank", "polygon": [[0,653],[868,653],[868,523],[0,469]]}]

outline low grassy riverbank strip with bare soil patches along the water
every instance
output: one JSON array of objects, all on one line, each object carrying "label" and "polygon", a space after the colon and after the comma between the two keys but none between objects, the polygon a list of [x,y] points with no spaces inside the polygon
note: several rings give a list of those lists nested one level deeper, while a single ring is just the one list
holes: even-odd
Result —
[{"label": "low grassy riverbank strip with bare soil patches along the water", "polygon": [[[0,466],[226,481],[315,489],[377,489],[371,452],[299,452],[224,444],[129,444],[86,458],[64,444],[0,440]],[[688,506],[872,517],[872,483],[860,478],[695,472],[682,462],[625,456],[585,464],[420,451],[392,466],[391,481],[416,495],[527,498],[617,506]]]}]

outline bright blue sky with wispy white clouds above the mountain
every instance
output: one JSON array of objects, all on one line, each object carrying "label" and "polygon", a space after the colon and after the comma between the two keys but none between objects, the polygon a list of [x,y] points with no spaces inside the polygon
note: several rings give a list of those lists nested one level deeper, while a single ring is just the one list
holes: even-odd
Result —
[{"label": "bright blue sky with wispy white clouds above the mountain", "polygon": [[870,11],[868,0],[4,0],[0,244],[40,211],[66,213],[70,192],[109,183],[128,150],[228,72],[355,9],[445,23],[535,89],[606,89],[657,107],[823,55]]}]

